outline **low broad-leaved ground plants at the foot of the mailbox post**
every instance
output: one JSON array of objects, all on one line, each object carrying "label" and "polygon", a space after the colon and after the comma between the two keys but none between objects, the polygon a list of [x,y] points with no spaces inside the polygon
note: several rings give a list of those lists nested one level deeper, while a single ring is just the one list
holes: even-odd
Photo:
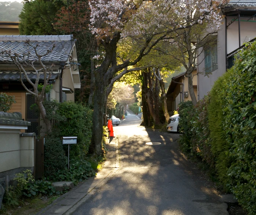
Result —
[{"label": "low broad-leaved ground plants at the foot of the mailbox post", "polygon": [[73,183],[77,183],[93,175],[95,175],[95,172],[91,167],[90,162],[86,160],[72,159],[70,161],[69,170],[65,167],[64,169],[49,175],[47,179],[51,181],[72,181]]}]

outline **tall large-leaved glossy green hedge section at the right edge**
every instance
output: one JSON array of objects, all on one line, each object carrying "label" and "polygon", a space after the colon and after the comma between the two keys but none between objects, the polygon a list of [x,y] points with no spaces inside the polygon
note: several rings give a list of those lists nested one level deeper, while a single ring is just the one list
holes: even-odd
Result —
[{"label": "tall large-leaved glossy green hedge section at the right edge", "polygon": [[[226,83],[223,128],[230,145],[228,186],[249,215],[256,214],[256,42],[246,44]],[[224,91],[225,90],[225,91]]]}]

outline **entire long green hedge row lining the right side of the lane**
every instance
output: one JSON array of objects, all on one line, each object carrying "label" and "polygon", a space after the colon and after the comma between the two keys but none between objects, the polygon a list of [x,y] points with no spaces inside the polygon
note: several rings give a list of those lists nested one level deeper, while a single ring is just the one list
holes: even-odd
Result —
[{"label": "entire long green hedge row lining the right side of the lane", "polygon": [[256,214],[256,42],[195,106],[179,105],[183,152],[209,165],[219,184]]}]

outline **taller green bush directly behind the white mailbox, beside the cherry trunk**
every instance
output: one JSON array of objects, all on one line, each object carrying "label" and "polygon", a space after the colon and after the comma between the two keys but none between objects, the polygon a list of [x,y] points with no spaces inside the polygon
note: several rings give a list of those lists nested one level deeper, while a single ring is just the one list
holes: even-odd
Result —
[{"label": "taller green bush directly behind the white mailbox, beside the cherry trunk", "polygon": [[[70,146],[70,157],[86,158],[91,144],[93,111],[75,102],[59,103],[56,113],[66,118],[56,123],[60,136],[77,136],[77,144]],[[66,148],[67,154],[67,146]]]}]

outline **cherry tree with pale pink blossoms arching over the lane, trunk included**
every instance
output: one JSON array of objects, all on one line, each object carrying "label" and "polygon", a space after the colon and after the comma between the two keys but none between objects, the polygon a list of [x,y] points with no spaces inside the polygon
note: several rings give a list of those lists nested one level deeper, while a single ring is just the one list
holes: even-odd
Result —
[{"label": "cherry tree with pale pink blossoms arching over the lane, trunk included", "polygon": [[[170,40],[176,32],[207,23],[209,29],[221,22],[220,7],[227,0],[91,0],[89,28],[104,47],[104,59],[95,70],[92,144],[100,154],[104,99],[107,86],[119,71],[137,66],[159,41]],[[136,51],[126,59],[118,56],[120,41],[131,41]],[[131,50],[132,51],[132,50]]]}]

